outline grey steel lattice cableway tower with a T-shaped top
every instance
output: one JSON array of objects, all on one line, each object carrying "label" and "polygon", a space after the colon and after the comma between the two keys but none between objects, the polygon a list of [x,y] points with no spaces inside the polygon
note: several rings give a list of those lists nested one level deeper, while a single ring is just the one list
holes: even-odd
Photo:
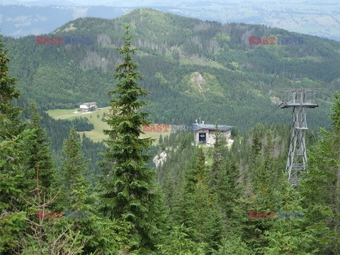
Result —
[{"label": "grey steel lattice cableway tower with a T-shaped top", "polygon": [[308,128],[305,108],[315,108],[319,106],[318,103],[307,100],[307,93],[312,91],[314,90],[290,89],[283,91],[288,93],[289,99],[280,103],[280,108],[293,108],[292,137],[290,139],[285,173],[288,174],[288,181],[290,181],[294,187],[297,186],[297,180],[307,166],[305,132]]}]

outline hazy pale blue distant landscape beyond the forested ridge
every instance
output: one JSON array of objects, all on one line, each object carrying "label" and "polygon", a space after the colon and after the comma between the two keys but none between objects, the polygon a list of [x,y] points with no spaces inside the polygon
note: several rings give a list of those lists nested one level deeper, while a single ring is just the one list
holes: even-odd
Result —
[{"label": "hazy pale blue distant landscape beyond the forested ridge", "polygon": [[[2,1],[0,33],[15,38],[50,33],[81,17],[116,18],[135,8],[148,7],[221,23],[263,24],[297,33],[340,40],[340,2],[296,1]],[[13,5],[13,4],[25,5]],[[40,4],[40,6],[38,6]],[[86,6],[86,4],[88,4]],[[115,5],[115,6],[113,6]]]}]

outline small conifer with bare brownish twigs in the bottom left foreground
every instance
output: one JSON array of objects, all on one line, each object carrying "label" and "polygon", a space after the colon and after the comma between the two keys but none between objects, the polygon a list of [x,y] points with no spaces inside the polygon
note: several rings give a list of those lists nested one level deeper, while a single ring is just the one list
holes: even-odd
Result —
[{"label": "small conifer with bare brownish twigs in the bottom left foreground", "polygon": [[[26,200],[29,209],[26,215],[25,231],[20,234],[20,242],[11,254],[40,254],[40,255],[66,255],[81,254],[84,241],[79,240],[79,230],[73,224],[56,220],[56,212],[52,203],[57,196],[49,197],[40,189],[39,171],[36,173],[35,196]],[[43,184],[43,183],[42,183]],[[60,227],[63,225],[64,228]]]}]

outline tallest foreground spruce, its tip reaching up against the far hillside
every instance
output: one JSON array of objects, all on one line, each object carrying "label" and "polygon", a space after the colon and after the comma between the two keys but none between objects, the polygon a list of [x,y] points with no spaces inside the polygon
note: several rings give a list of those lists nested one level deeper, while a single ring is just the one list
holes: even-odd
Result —
[{"label": "tallest foreground spruce, its tip reaching up against the far hillside", "polygon": [[[110,130],[104,130],[108,135],[103,176],[101,179],[101,210],[111,219],[126,219],[132,224],[132,249],[140,249],[149,254],[155,249],[159,222],[157,203],[159,193],[156,188],[156,172],[146,166],[149,155],[144,152],[152,145],[151,138],[140,138],[142,123],[149,113],[140,111],[145,101],[140,96],[146,96],[147,91],[137,84],[142,76],[137,72],[138,64],[132,62],[132,54],[136,49],[131,45],[129,26],[126,26],[124,45],[118,51],[123,55],[123,63],[118,64],[115,78],[117,88],[109,91],[114,95],[111,101],[110,113],[106,123]],[[162,207],[162,205],[159,205]]]}]

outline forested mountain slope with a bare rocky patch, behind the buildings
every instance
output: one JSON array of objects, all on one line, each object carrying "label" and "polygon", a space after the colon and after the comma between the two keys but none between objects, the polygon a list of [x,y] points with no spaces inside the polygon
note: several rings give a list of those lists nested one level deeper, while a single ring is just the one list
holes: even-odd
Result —
[{"label": "forested mountain slope with a bare rocky patch, behind the buildings", "polygon": [[[84,101],[107,106],[115,86],[115,47],[123,44],[123,24],[132,23],[134,56],[145,76],[141,85],[157,123],[223,123],[246,130],[256,122],[290,121],[275,111],[282,89],[316,88],[339,76],[340,42],[286,30],[200,21],[151,9],[112,20],[79,18],[44,37],[90,37],[91,45],[36,45],[35,36],[5,38],[11,75],[25,98],[44,110],[75,108]],[[302,37],[302,45],[249,45],[249,36]],[[300,81],[292,82],[293,77]],[[336,84],[317,93],[320,107],[310,125],[327,125]],[[246,116],[246,118],[244,118]]]}]

